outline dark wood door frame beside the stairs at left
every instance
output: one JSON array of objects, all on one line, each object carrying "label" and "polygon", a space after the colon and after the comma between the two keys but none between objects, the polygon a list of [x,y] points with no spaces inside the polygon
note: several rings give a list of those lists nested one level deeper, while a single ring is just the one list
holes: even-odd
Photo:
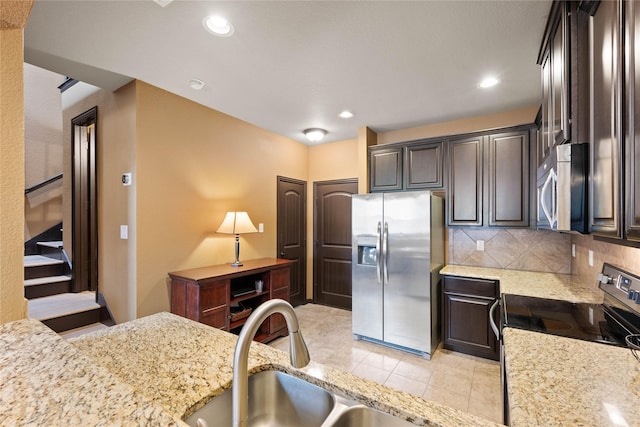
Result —
[{"label": "dark wood door frame beside the stairs at left", "polygon": [[[89,137],[83,146],[78,132]],[[71,250],[73,292],[98,291],[98,107],[71,119]],[[93,137],[91,137],[93,132]],[[80,156],[81,150],[87,156]]]}]

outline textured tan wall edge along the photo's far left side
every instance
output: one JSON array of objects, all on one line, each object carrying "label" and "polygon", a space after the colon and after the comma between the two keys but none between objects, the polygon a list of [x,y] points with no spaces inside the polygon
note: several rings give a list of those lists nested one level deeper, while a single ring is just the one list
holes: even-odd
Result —
[{"label": "textured tan wall edge along the photo's far left side", "polygon": [[23,28],[33,1],[0,2],[0,323],[27,316],[23,285]]}]

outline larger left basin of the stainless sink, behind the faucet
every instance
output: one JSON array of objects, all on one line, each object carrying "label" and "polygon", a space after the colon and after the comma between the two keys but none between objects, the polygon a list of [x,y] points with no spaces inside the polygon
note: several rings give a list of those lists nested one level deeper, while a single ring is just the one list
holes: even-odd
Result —
[{"label": "larger left basin of the stainless sink, behind the faucet", "polygon": [[[185,422],[195,427],[201,418],[209,427],[231,426],[231,401],[229,389]],[[283,372],[264,371],[249,377],[249,426],[320,426],[334,406],[332,393]]]}]

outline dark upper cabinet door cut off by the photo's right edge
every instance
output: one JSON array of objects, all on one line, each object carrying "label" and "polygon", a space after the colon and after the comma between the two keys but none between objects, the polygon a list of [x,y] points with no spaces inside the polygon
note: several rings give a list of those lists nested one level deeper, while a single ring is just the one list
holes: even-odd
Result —
[{"label": "dark upper cabinet door cut off by the photo's right edge", "polygon": [[633,54],[640,49],[640,5],[636,2],[625,2],[625,68],[626,99],[626,237],[640,241],[640,54]]}]

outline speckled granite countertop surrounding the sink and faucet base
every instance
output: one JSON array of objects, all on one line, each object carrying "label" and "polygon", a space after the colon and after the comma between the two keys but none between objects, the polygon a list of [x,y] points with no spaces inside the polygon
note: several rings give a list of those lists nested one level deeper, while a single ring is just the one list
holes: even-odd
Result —
[{"label": "speckled granite countertop surrounding the sink and faucet base", "polygon": [[[159,313],[78,337],[72,344],[170,415],[183,418],[231,386],[236,341],[227,332]],[[313,353],[311,359],[307,367],[295,369],[287,353],[254,342],[249,373],[284,371],[417,425],[496,425],[314,363]]]}]

